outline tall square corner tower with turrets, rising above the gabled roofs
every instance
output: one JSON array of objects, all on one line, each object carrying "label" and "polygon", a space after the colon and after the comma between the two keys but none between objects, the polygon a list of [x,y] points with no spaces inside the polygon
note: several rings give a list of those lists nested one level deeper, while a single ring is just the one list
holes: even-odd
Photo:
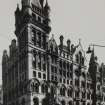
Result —
[{"label": "tall square corner tower with turrets, rising above the gabled roofs", "polygon": [[39,105],[47,87],[47,45],[50,8],[47,0],[22,0],[15,11],[15,34],[19,48],[18,103]]}]

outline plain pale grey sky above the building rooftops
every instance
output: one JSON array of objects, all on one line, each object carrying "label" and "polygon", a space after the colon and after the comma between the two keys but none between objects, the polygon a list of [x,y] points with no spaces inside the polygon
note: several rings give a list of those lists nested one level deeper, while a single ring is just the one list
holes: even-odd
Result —
[{"label": "plain pale grey sky above the building rooftops", "polygon": [[[89,44],[105,46],[105,0],[48,0],[51,13],[52,31],[59,44],[59,36],[64,43],[70,39],[75,45],[79,39],[86,51]],[[2,83],[2,52],[9,48],[15,37],[15,17],[20,0],[2,0],[0,3],[0,84]],[[21,5],[20,5],[21,7]],[[105,63],[105,48],[95,47],[99,63]],[[86,55],[87,56],[87,55]]]}]

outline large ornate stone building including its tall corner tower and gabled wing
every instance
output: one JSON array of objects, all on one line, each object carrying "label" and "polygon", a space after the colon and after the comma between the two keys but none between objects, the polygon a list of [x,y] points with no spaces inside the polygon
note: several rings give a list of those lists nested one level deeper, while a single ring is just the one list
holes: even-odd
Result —
[{"label": "large ornate stone building including its tall corner tower and gabled wing", "polygon": [[[16,40],[2,58],[4,105],[94,105],[92,77],[81,42],[57,45],[50,7],[44,0],[22,0],[15,11]],[[98,83],[97,83],[98,84]]]}]

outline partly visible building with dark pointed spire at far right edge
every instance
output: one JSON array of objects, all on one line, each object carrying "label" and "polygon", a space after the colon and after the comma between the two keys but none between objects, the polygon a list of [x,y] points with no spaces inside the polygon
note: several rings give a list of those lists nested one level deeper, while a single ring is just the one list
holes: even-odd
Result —
[{"label": "partly visible building with dark pointed spire at far right edge", "polygon": [[97,57],[94,54],[94,49],[91,52],[91,58],[89,63],[89,73],[92,79],[92,104],[102,105],[105,104],[104,100],[104,72],[105,66],[99,65]]}]

